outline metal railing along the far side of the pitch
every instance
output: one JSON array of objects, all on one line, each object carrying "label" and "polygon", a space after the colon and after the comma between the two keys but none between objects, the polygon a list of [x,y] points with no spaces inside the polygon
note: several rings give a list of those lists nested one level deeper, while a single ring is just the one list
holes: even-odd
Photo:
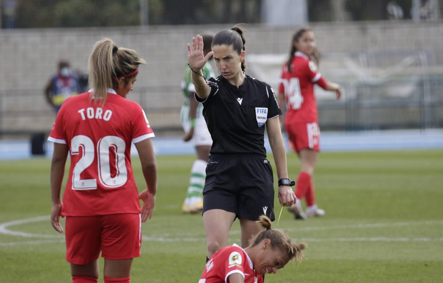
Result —
[{"label": "metal railing along the far side of the pitch", "polygon": [[[443,76],[408,80],[387,85],[357,85],[342,82],[344,98],[319,99],[319,124],[322,130],[426,129],[443,127]],[[132,91],[128,99],[138,102],[157,133],[182,133],[179,119],[183,103],[175,86],[146,87]],[[0,137],[49,133],[55,113],[42,90],[0,91]]]}]

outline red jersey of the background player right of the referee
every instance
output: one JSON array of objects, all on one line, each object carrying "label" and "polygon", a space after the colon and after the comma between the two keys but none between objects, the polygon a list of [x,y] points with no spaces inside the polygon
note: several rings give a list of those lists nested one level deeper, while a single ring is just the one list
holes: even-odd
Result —
[{"label": "red jersey of the background player right of the referee", "polygon": [[326,89],[326,80],[318,72],[317,66],[302,52],[295,52],[291,63],[292,72],[284,64],[279,92],[286,98],[286,122],[317,122],[317,102],[314,84]]}]

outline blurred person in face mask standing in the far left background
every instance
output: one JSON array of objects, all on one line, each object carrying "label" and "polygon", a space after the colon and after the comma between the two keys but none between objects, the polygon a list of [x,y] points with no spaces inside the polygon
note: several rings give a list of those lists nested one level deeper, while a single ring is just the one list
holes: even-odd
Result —
[{"label": "blurred person in face mask standing in the far left background", "polygon": [[63,102],[71,96],[79,94],[81,87],[77,75],[70,68],[66,60],[58,62],[58,72],[51,77],[45,87],[45,96],[49,104],[58,113]]}]

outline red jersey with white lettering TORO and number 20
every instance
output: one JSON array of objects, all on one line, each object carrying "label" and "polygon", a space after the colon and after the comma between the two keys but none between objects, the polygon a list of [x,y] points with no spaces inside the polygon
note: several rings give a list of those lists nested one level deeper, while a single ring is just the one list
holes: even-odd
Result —
[{"label": "red jersey with white lettering TORO and number 20", "polygon": [[140,213],[131,142],[153,137],[141,106],[112,89],[104,106],[89,92],[63,102],[48,138],[66,144],[71,156],[62,215]]}]

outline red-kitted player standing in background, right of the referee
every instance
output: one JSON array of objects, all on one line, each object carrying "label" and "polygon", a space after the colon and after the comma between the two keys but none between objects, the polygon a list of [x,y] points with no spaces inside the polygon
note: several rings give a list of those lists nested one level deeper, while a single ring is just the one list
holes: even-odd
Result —
[{"label": "red-kitted player standing in background, right of the referee", "polygon": [[[318,84],[324,90],[334,91],[337,99],[340,98],[341,90],[337,83],[323,79],[316,66],[319,63],[319,57],[311,29],[302,28],[295,32],[289,59],[283,66],[279,86],[279,103],[282,105],[285,101],[287,109],[284,126],[292,147],[301,160],[301,170],[295,190],[297,201],[288,208],[289,211],[294,212],[296,219],[325,214],[325,211],[315,204],[312,182],[317,153],[320,150],[320,129],[314,84]],[[302,198],[306,200],[306,214],[301,208]]]}]

